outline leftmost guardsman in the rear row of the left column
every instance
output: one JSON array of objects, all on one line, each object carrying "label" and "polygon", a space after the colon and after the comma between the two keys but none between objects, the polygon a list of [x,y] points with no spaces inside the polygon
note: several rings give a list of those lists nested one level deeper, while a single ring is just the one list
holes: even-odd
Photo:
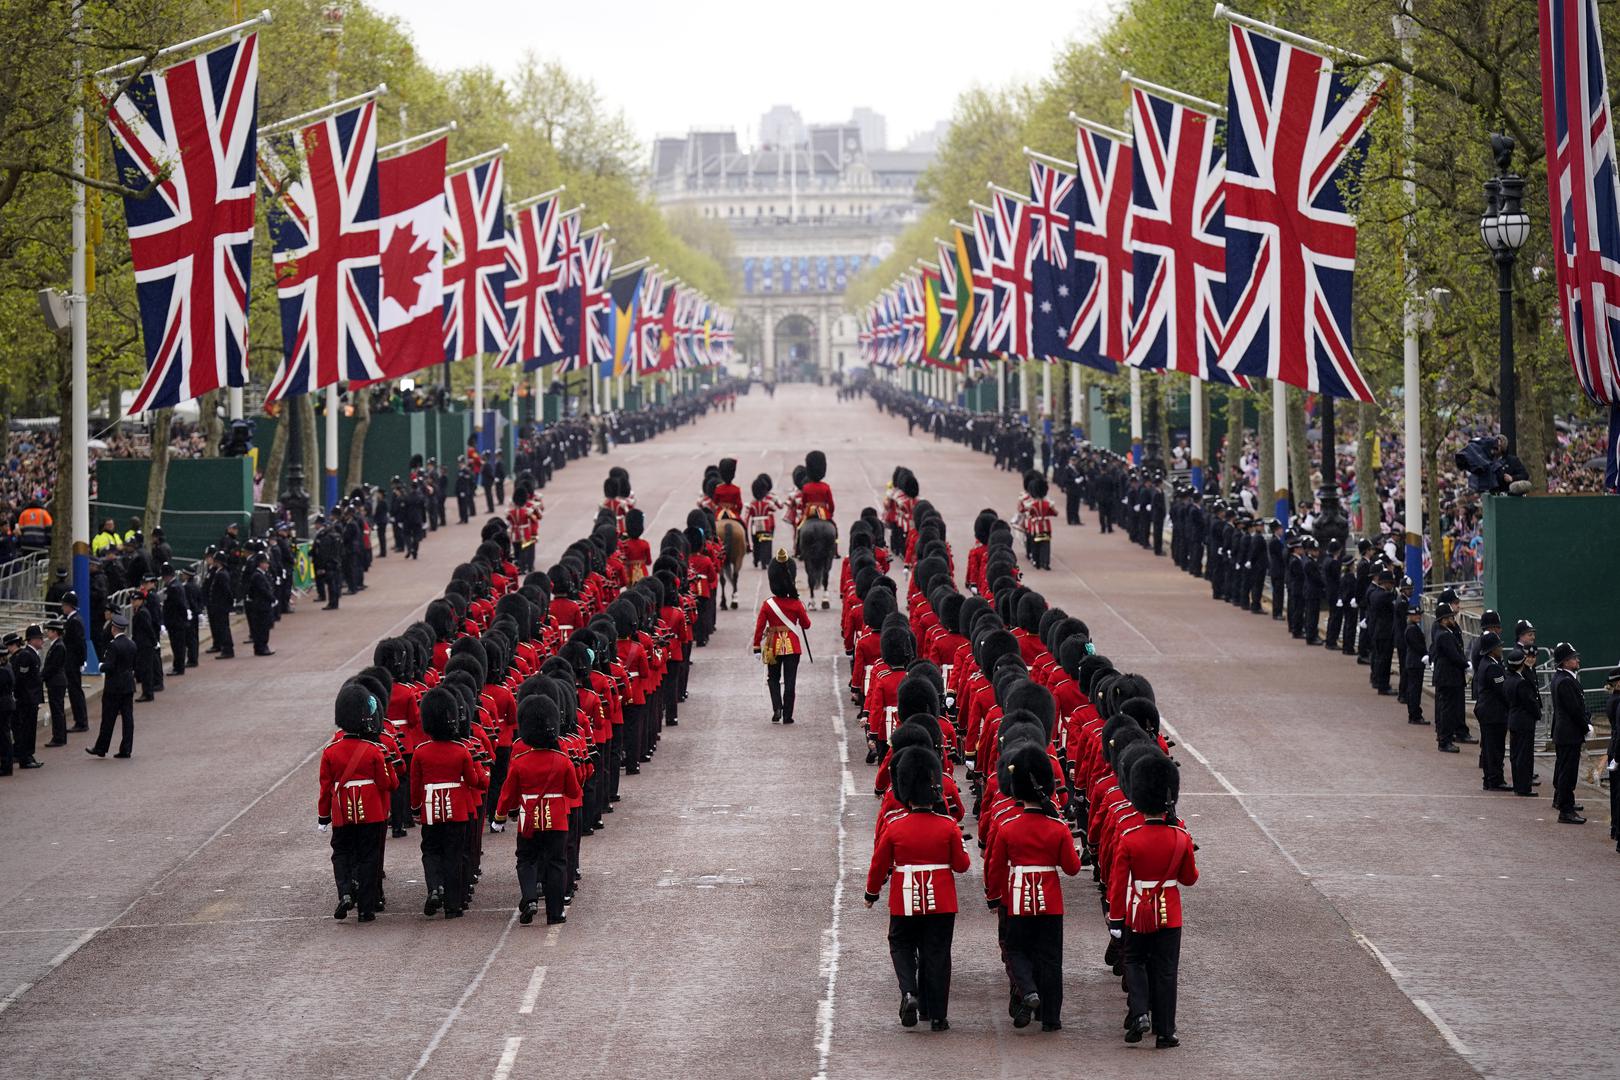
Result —
[{"label": "leftmost guardsman in the rear row of the left column", "polygon": [[382,895],[382,834],[389,826],[389,798],[397,779],[382,753],[382,703],[358,683],[337,691],[334,719],[343,732],[321,755],[318,824],[332,831],[332,874],[337,910],[345,918],[360,908],[360,921],[377,915]]}]

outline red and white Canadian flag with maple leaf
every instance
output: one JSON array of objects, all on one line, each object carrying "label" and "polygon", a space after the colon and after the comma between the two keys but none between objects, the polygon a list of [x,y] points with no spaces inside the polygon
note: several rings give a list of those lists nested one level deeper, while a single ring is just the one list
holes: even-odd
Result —
[{"label": "red and white Canadian flag with maple leaf", "polygon": [[444,358],[446,139],[377,164],[382,217],[382,371],[389,379]]}]

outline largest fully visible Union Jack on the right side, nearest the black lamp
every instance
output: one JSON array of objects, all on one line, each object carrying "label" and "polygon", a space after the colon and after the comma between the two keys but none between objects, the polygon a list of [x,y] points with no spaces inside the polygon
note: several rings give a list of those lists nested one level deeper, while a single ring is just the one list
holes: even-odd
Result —
[{"label": "largest fully visible Union Jack on the right side, nearest the black lamp", "polygon": [[1351,355],[1361,170],[1382,81],[1231,28],[1226,108],[1226,303],[1220,366],[1371,402]]}]

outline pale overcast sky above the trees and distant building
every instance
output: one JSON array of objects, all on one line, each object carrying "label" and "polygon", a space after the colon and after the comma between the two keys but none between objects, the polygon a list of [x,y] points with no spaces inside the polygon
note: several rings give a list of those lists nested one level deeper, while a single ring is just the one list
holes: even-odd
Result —
[{"label": "pale overcast sky above the trees and distant building", "polygon": [[[642,134],[757,131],[771,105],[807,123],[867,105],[889,147],[933,128],[974,84],[1030,83],[1071,37],[1100,24],[1106,0],[1004,5],[899,0],[373,0],[411,29],[436,68],[512,68],[525,50],[596,83]],[[928,84],[928,92],[922,91]]]}]

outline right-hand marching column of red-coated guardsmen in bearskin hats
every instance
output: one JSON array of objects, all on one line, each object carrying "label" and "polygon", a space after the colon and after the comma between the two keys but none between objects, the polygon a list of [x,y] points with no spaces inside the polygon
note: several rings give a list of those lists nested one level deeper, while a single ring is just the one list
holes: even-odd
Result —
[{"label": "right-hand marching column of red-coated guardsmen in bearskin hats", "polygon": [[1178,1046],[1179,891],[1197,865],[1174,814],[1171,743],[1149,680],[1115,670],[1081,619],[1022,583],[1013,528],[980,512],[959,568],[909,470],[896,470],[881,517],[849,528],[841,635],[883,800],[865,902],[888,887],[899,1020],[951,1027],[956,874],[977,837],[1013,1025],[1063,1027],[1063,878],[1089,868],[1124,1040]]}]

